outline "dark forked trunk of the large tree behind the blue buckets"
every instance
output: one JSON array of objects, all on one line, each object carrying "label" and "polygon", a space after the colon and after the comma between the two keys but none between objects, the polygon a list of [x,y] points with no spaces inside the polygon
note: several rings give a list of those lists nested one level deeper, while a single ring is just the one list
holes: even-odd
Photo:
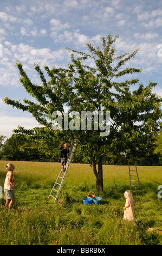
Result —
[{"label": "dark forked trunk of the large tree behind the blue buckets", "polygon": [[96,177],[96,189],[103,191],[103,172],[102,172],[102,156],[99,158],[98,171],[96,169],[96,162],[93,161],[93,172]]}]

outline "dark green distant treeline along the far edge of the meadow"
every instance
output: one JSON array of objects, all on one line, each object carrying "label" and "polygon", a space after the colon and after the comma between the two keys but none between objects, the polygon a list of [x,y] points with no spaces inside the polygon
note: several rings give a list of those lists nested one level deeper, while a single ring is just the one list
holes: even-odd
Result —
[{"label": "dark green distant treeline along the far edge of the meadow", "polygon": [[[4,137],[0,136],[0,160],[6,161],[38,161],[38,162],[61,162],[59,157],[60,149],[58,147],[39,148],[38,143],[27,142],[23,136],[12,135],[4,143]],[[160,140],[161,141],[161,140]],[[159,147],[160,148],[160,147]],[[113,155],[109,154],[103,157],[103,164],[111,165],[127,165],[128,161],[130,164],[137,163],[139,166],[162,166],[162,155],[161,151],[154,152],[133,158],[129,160],[124,155]],[[75,151],[75,155],[72,160],[73,163],[89,163],[86,159]]]}]

